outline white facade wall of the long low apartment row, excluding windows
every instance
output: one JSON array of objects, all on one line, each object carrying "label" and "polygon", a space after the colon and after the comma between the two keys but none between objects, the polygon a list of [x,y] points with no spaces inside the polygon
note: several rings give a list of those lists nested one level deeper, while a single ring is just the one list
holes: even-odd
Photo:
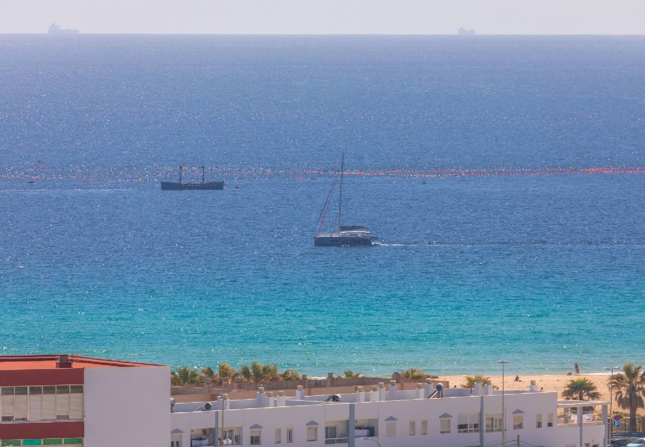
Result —
[{"label": "white facade wall of the long low apartment row, excluding windows", "polygon": [[[388,400],[355,404],[355,419],[377,419],[377,440],[382,447],[455,447],[479,445],[480,433],[457,433],[459,414],[479,413],[481,397],[446,397],[442,399]],[[484,417],[486,413],[502,412],[501,395],[484,396]],[[346,421],[350,404],[312,404],[308,406],[286,406],[277,408],[255,408],[246,410],[226,410],[226,426],[242,427],[242,445],[249,445],[250,426],[258,424],[262,429],[262,444],[273,444],[276,428],[282,429],[283,444],[286,429],[293,428],[293,444],[285,447],[323,447],[324,426],[326,421]],[[513,430],[514,410],[524,411],[524,428]],[[180,428],[184,433],[190,429],[213,428],[213,411],[199,413],[174,413],[170,430]],[[439,416],[452,415],[451,433],[439,433]],[[536,415],[542,413],[542,428],[536,427]],[[553,413],[553,427],[547,427],[547,414]],[[397,436],[386,437],[386,419],[397,419]],[[306,424],[317,422],[318,441],[306,441]],[[416,434],[410,435],[410,422],[415,422]],[[421,421],[428,421],[428,434],[421,435]],[[485,430],[485,426],[482,427]],[[564,447],[578,444],[579,427],[557,427],[557,393],[524,393],[506,397],[506,440],[515,440],[517,435],[523,442],[539,446]],[[584,442],[602,445],[604,427],[584,426]],[[501,432],[483,433],[484,445],[499,444]],[[188,437],[184,437],[184,442]],[[188,444],[184,444],[188,446]],[[373,441],[356,440],[356,447],[374,447]]]}]

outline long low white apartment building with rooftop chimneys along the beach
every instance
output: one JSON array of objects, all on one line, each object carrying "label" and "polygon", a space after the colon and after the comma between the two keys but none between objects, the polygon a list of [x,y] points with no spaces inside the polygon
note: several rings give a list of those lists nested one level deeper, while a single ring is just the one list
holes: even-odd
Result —
[{"label": "long low white apartment building with rooftop chimneys along the beach", "polygon": [[[508,446],[604,447],[608,402],[558,400],[556,392],[506,390],[490,382],[437,392],[428,382],[400,391],[395,382],[355,393],[295,397],[263,388],[255,399],[174,404],[171,447],[226,446],[315,447],[492,447],[500,446],[502,426]],[[337,400],[337,401],[335,401]],[[206,405],[208,403],[208,405]],[[600,407],[602,419],[583,414]],[[571,409],[575,408],[572,414]],[[504,416],[502,416],[504,415]],[[559,417],[560,415],[560,417]],[[503,423],[502,423],[503,419]],[[223,428],[223,429],[222,429]]]}]

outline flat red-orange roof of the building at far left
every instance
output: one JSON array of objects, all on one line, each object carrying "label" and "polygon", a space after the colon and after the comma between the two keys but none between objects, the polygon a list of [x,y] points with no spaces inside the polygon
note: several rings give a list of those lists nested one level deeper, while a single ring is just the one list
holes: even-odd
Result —
[{"label": "flat red-orange roof of the building at far left", "polygon": [[[48,355],[0,355],[0,371],[21,371],[26,369],[57,369],[56,359],[61,354]],[[58,369],[84,369],[84,368],[125,368],[163,366],[152,363],[124,362],[123,360],[94,359],[81,355],[67,355],[72,362],[72,368]]]}]

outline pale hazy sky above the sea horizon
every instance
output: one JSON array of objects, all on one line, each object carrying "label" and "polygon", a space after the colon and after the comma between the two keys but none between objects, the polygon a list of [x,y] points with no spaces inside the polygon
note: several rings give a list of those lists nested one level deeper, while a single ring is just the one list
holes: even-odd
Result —
[{"label": "pale hazy sky above the sea horizon", "polygon": [[645,34],[645,0],[0,0],[0,33]]}]

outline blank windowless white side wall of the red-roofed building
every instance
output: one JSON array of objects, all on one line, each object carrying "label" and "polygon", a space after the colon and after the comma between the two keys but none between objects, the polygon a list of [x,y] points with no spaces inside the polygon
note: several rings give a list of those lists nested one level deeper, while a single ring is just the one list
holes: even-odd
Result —
[{"label": "blank windowless white side wall of the red-roofed building", "polygon": [[170,367],[86,368],[86,447],[170,445]]}]

